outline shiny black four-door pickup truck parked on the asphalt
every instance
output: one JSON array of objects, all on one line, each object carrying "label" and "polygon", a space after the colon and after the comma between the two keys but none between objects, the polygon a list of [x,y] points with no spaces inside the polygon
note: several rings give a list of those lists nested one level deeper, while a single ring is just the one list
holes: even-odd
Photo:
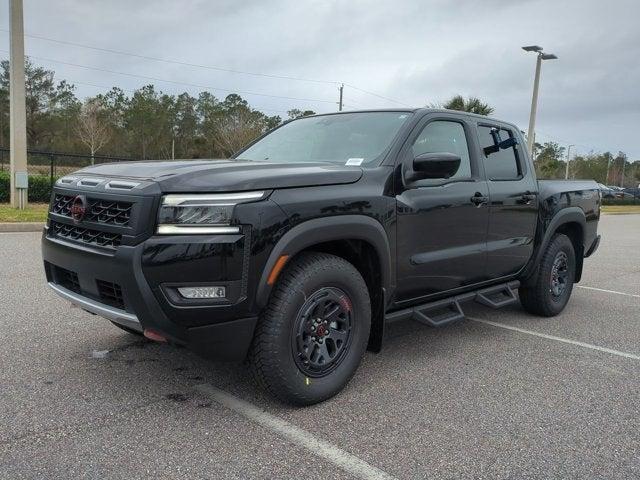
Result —
[{"label": "shiny black four-door pickup truck parked on the asphalt", "polygon": [[247,359],[272,394],[339,392],[385,323],[565,307],[598,247],[592,181],[537,181],[519,129],[453,111],[317,115],[235,158],[57,181],[47,281],[131,333]]}]

